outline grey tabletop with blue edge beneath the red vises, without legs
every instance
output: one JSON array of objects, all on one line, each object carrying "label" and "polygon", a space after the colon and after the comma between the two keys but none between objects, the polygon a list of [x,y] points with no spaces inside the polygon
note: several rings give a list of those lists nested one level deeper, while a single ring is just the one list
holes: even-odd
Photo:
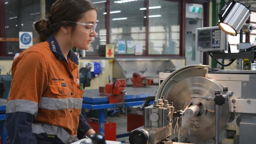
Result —
[{"label": "grey tabletop with blue edge beneath the red vises, without legs", "polygon": [[[125,102],[143,101],[148,96],[155,96],[158,86],[151,85],[148,87],[126,87]],[[109,103],[108,96],[100,96],[99,90],[85,90],[83,93],[83,103],[87,104],[104,104]]]}]

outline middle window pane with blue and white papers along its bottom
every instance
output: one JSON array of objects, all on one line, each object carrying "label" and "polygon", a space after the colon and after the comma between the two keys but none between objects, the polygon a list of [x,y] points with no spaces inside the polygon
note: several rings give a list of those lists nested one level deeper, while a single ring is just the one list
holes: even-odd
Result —
[{"label": "middle window pane with blue and white papers along its bottom", "polygon": [[109,43],[114,44],[115,54],[145,55],[145,4],[145,0],[110,0]]}]

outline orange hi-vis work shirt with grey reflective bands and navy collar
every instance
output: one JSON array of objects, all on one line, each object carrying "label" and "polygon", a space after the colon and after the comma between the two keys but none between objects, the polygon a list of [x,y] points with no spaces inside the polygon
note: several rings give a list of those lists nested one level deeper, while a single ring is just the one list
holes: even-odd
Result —
[{"label": "orange hi-vis work shirt with grey reflective bands and navy collar", "polygon": [[34,114],[32,133],[72,142],[83,102],[78,72],[74,52],[66,59],[53,36],[33,45],[13,61],[6,113]]}]

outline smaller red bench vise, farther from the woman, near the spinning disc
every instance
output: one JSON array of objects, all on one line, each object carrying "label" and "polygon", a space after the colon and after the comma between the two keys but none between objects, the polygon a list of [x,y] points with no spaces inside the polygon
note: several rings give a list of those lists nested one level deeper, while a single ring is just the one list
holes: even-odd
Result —
[{"label": "smaller red bench vise, farther from the woman, near the spinning disc", "polygon": [[148,85],[154,85],[153,79],[147,79],[147,77],[134,72],[132,75],[132,87],[147,87]]}]

